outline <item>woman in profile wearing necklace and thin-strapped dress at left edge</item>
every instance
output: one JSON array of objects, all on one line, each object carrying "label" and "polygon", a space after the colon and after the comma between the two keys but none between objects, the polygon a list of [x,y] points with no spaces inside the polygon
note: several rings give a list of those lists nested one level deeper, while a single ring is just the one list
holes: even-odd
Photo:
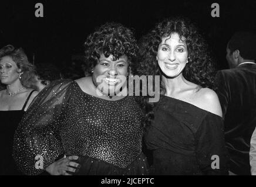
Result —
[{"label": "woman in profile wearing necklace and thin-strapped dress at left edge", "polygon": [[21,175],[12,158],[15,129],[38,94],[32,88],[35,67],[22,49],[8,45],[0,50],[0,175]]}]

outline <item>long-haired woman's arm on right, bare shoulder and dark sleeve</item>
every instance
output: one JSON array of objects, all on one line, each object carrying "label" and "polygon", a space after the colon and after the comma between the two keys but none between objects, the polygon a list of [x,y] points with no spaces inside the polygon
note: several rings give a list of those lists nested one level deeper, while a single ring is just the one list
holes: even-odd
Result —
[{"label": "long-haired woman's arm on right, bare shoulder and dark sleeve", "polygon": [[225,148],[224,124],[217,94],[204,88],[200,95],[201,107],[209,113],[196,133],[197,160],[206,175],[227,175],[228,151]]}]

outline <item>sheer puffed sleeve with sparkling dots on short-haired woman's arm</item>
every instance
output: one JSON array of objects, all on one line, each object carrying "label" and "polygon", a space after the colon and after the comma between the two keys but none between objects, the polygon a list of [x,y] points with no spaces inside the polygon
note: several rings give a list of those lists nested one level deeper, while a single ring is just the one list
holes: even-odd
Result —
[{"label": "sheer puffed sleeve with sparkling dots on short-haired woman's arm", "polygon": [[72,84],[72,81],[64,79],[48,85],[33,99],[19,123],[15,131],[13,155],[24,174],[41,174],[63,155],[59,121],[72,94]]}]

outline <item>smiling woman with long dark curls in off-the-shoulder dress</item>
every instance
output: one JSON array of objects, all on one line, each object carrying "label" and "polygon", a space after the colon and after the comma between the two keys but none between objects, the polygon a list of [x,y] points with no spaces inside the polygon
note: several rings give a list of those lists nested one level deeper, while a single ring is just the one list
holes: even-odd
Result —
[{"label": "smiling woman with long dark curls in off-the-shoulder dress", "polygon": [[[166,19],[142,39],[139,75],[159,75],[160,101],[144,98],[151,174],[227,174],[223,121],[214,88],[214,65],[196,26]],[[152,110],[153,108],[153,110]],[[213,156],[220,162],[212,166]],[[215,157],[214,157],[215,158]]]}]

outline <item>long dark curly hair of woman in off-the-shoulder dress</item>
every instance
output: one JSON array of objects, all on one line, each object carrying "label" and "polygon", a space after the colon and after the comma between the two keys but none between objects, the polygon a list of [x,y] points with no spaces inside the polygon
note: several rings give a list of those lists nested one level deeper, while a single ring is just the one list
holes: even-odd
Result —
[{"label": "long dark curly hair of woman in off-the-shoulder dress", "polygon": [[[197,27],[186,18],[169,18],[142,37],[139,44],[140,63],[134,69],[137,75],[160,75],[162,72],[156,60],[159,44],[163,37],[169,37],[177,33],[180,38],[184,37],[188,50],[188,63],[183,70],[183,76],[187,81],[200,85],[203,88],[215,89],[215,63],[211,58],[208,46],[203,36],[198,33]],[[153,81],[154,82],[154,81]],[[160,85],[160,92],[165,93],[166,88]],[[140,97],[142,108],[147,113],[148,124],[153,120],[154,103],[149,103],[149,96]]]}]

